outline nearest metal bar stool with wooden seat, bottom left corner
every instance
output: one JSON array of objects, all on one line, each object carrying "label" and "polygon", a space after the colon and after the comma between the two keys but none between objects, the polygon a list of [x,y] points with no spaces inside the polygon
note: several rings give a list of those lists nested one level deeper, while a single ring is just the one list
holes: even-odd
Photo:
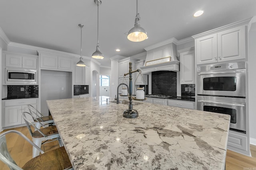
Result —
[{"label": "nearest metal bar stool with wooden seat, bottom left corner", "polygon": [[[17,133],[28,141],[33,147],[38,149],[42,154],[32,158],[20,168],[12,159],[10,152],[7,149],[6,137],[8,133]],[[0,160],[4,162],[11,170],[73,170],[72,164],[68,158],[68,154],[64,147],[60,147],[44,153],[42,149],[32,143],[25,135],[19,131],[6,131],[0,135]]]}]

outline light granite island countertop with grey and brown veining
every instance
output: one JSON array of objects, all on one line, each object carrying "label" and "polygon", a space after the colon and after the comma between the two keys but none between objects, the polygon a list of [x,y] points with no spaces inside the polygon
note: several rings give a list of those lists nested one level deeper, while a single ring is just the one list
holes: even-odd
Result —
[{"label": "light granite island countertop with grey and brown veining", "polygon": [[229,115],[143,102],[128,119],[105,96],[47,104],[74,170],[225,168]]}]

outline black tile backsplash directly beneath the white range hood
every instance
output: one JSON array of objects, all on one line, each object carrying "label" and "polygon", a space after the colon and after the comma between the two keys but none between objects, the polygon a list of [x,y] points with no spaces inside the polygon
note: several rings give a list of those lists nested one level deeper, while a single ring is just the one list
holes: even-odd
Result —
[{"label": "black tile backsplash directly beneath the white range hood", "polygon": [[152,94],[177,96],[177,72],[152,72]]}]

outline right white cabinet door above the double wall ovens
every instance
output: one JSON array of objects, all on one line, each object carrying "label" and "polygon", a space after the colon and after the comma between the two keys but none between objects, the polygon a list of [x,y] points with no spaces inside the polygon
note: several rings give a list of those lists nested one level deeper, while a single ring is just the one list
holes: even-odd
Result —
[{"label": "right white cabinet door above the double wall ovens", "polygon": [[218,61],[245,59],[245,26],[218,33]]}]

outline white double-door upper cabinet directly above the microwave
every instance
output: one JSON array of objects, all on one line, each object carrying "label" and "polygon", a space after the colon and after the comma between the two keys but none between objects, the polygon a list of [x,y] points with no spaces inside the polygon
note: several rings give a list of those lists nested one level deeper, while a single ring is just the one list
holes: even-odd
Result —
[{"label": "white double-door upper cabinet directly above the microwave", "polygon": [[4,51],[3,53],[5,54],[6,67],[37,69],[38,56],[18,54],[7,51]]}]

